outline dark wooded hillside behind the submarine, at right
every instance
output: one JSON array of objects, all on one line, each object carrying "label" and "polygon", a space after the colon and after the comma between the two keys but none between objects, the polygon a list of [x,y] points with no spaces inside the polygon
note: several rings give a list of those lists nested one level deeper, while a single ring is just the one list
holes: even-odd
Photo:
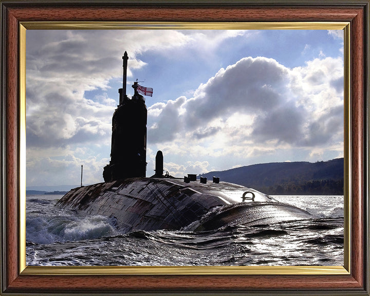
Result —
[{"label": "dark wooded hillside behind the submarine, at right", "polygon": [[344,159],[315,163],[272,162],[200,175],[241,184],[266,194],[343,194]]}]

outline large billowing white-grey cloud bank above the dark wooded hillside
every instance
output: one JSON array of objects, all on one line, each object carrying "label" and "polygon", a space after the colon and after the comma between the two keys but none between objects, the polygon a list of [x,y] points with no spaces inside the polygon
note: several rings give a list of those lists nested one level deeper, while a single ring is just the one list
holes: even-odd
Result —
[{"label": "large billowing white-grey cloud bank above the dark wooded hillside", "polygon": [[293,69],[273,59],[243,58],[199,85],[193,97],[149,108],[148,137],[151,143],[172,141],[171,153],[197,155],[251,156],[267,144],[336,145],[343,141],[341,85],[340,58]]}]

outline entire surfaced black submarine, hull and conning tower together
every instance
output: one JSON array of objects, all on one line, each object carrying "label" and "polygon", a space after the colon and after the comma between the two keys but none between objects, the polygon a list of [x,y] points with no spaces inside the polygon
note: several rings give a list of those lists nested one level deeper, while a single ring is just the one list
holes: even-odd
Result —
[{"label": "entire surfaced black submarine, hull and conning tower together", "polygon": [[126,95],[127,52],[123,59],[123,87],[112,118],[109,164],[104,182],[71,189],[56,206],[115,219],[121,232],[135,230],[209,231],[227,225],[271,225],[309,219],[307,211],[238,184],[194,174],[175,178],[163,174],[163,153],[157,152],[155,174],[146,177],[147,109],[143,87],[134,82],[134,96]]}]

